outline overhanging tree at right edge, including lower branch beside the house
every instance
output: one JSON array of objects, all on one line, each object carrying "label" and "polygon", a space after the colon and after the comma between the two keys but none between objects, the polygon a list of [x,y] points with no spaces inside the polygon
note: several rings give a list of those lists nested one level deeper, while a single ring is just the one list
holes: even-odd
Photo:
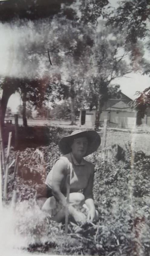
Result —
[{"label": "overhanging tree at right edge, including lower branch beside the house", "polygon": [[[119,33],[125,37],[125,49],[131,51],[132,65],[137,63],[136,70],[143,70],[143,74],[150,73],[150,63],[148,60],[142,59],[144,50],[150,46],[149,40],[149,24],[150,24],[150,9],[149,0],[132,0],[122,1],[119,7],[112,11],[107,24],[117,29]],[[146,39],[144,41],[144,39]],[[142,40],[142,45],[139,43]],[[143,47],[144,44],[144,47]],[[149,106],[149,91],[150,87],[143,92],[137,92],[138,97],[131,103],[132,108],[135,108],[137,113],[137,124],[142,123],[147,107]]]}]

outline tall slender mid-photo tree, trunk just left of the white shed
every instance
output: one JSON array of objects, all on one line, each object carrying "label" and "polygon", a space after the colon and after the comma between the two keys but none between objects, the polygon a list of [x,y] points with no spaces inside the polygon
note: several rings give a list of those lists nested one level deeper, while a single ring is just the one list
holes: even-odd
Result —
[{"label": "tall slender mid-photo tree, trunk just left of the white shed", "polygon": [[[61,22],[63,21],[63,25]],[[57,24],[56,36],[59,36],[59,51],[62,52],[60,67],[60,84],[65,88],[64,98],[70,99],[71,125],[76,124],[75,101],[81,93],[83,80],[89,65],[88,59],[93,46],[93,29],[87,26],[73,26],[64,19]],[[61,29],[61,34],[59,33]],[[57,34],[59,33],[59,35]],[[89,36],[90,35],[90,36]]]}]

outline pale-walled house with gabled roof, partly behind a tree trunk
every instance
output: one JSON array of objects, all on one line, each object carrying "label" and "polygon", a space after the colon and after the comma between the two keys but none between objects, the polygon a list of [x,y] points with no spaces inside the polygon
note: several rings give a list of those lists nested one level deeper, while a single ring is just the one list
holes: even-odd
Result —
[{"label": "pale-walled house with gabled roof, partly behind a tree trunk", "polygon": [[[119,92],[116,97],[105,102],[100,115],[99,125],[103,126],[104,119],[107,119],[109,127],[132,128],[136,124],[137,111],[129,106],[131,102],[128,96]],[[91,111],[80,109],[80,124],[85,126],[94,126],[96,119],[96,109]]]}]

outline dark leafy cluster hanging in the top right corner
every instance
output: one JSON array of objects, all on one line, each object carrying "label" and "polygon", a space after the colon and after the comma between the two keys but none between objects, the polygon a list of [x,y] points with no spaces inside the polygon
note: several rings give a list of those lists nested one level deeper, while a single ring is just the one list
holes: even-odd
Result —
[{"label": "dark leafy cluster hanging in the top right corner", "polygon": [[144,38],[148,32],[149,0],[122,1],[113,12],[108,23],[119,27],[126,34],[126,42],[135,44],[138,38]]}]

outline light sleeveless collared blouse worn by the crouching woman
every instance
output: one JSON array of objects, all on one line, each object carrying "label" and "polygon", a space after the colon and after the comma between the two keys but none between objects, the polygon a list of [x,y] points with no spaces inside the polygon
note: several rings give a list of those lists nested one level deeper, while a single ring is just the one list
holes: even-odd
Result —
[{"label": "light sleeveless collared blouse worn by the crouching woman", "polygon": [[[70,193],[77,192],[80,189],[85,189],[90,176],[94,173],[94,165],[85,159],[82,159],[81,163],[79,164],[73,157],[72,153],[61,156],[60,158],[56,159],[56,161],[59,159],[61,159],[59,164],[64,166],[64,169],[66,170],[66,175],[70,174]],[[45,181],[45,184],[50,188],[52,188],[53,182],[53,169],[54,166],[48,173]],[[61,191],[66,191],[66,179],[62,181]]]}]

